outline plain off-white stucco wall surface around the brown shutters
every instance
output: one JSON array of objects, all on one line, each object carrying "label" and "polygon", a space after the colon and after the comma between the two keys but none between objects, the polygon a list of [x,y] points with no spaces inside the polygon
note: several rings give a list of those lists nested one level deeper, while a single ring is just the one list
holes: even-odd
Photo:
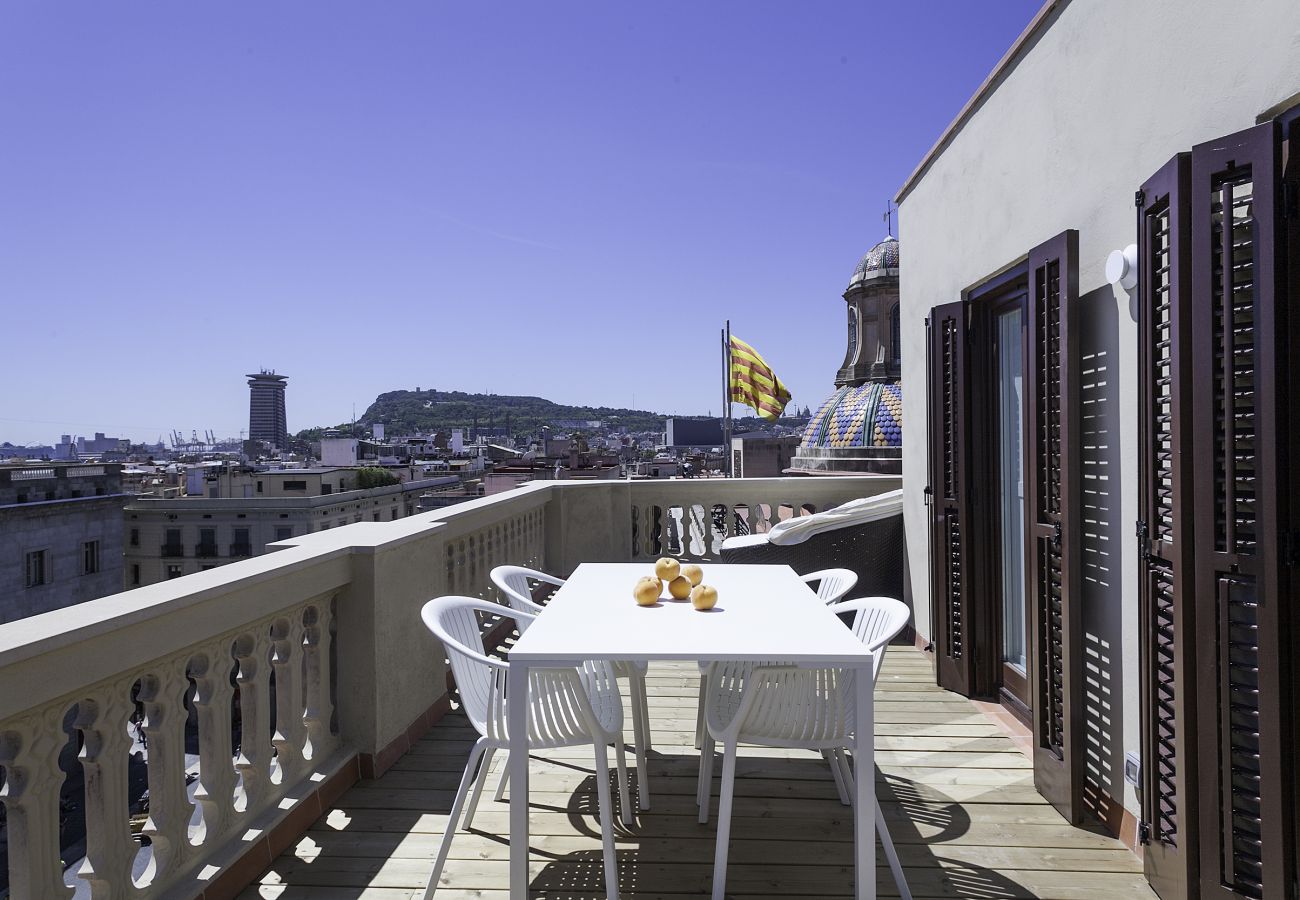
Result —
[{"label": "plain off-white stucco wall surface around the brown shutters", "polygon": [[[926,328],[935,304],[1079,230],[1087,359],[1084,624],[1089,769],[1136,810],[1123,784],[1139,745],[1136,323],[1106,284],[1106,255],[1132,243],[1134,192],[1170,156],[1249,127],[1300,100],[1300,4],[1251,0],[1074,0],[976,109],[900,204],[907,544],[927,558]],[[930,633],[928,572],[911,570]]]}]

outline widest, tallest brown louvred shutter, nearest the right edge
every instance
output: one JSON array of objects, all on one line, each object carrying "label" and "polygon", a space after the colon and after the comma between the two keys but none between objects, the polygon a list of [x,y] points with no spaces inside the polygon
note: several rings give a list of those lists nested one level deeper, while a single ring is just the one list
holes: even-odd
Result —
[{"label": "widest, tallest brown louvred shutter, nearest the right edge", "polygon": [[[1295,896],[1291,480],[1273,122],[1192,148],[1201,896]],[[1290,300],[1292,304],[1295,298]],[[1279,382],[1283,385],[1279,393]]]}]

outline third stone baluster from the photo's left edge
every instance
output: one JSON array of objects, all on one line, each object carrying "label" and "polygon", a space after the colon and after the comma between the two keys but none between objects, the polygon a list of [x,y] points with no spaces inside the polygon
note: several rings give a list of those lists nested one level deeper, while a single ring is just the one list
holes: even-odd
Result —
[{"label": "third stone baluster from the photo's left edge", "polygon": [[144,705],[144,736],[150,761],[150,818],[144,834],[153,851],[151,878],[165,877],[179,866],[190,849],[190,819],[194,806],[185,784],[185,661],[160,666],[140,679],[139,701]]}]

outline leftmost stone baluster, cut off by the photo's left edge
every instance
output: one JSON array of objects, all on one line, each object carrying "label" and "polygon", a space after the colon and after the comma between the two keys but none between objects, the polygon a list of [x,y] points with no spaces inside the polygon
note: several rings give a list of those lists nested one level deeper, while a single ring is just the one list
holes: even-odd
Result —
[{"label": "leftmost stone baluster, cut off by the photo's left edge", "polygon": [[9,841],[9,896],[66,900],[58,847],[58,793],[64,773],[64,715],[48,709],[18,719],[0,732],[0,801]]}]

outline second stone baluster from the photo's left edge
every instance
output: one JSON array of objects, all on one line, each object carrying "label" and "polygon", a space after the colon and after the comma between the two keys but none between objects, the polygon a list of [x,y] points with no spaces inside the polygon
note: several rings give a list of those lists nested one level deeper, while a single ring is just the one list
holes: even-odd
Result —
[{"label": "second stone baluster from the photo's left edge", "polygon": [[90,886],[94,900],[131,895],[131,866],[139,849],[131,838],[127,800],[133,683],[134,679],[104,687],[77,708],[86,779],[86,864],[78,877]]}]

